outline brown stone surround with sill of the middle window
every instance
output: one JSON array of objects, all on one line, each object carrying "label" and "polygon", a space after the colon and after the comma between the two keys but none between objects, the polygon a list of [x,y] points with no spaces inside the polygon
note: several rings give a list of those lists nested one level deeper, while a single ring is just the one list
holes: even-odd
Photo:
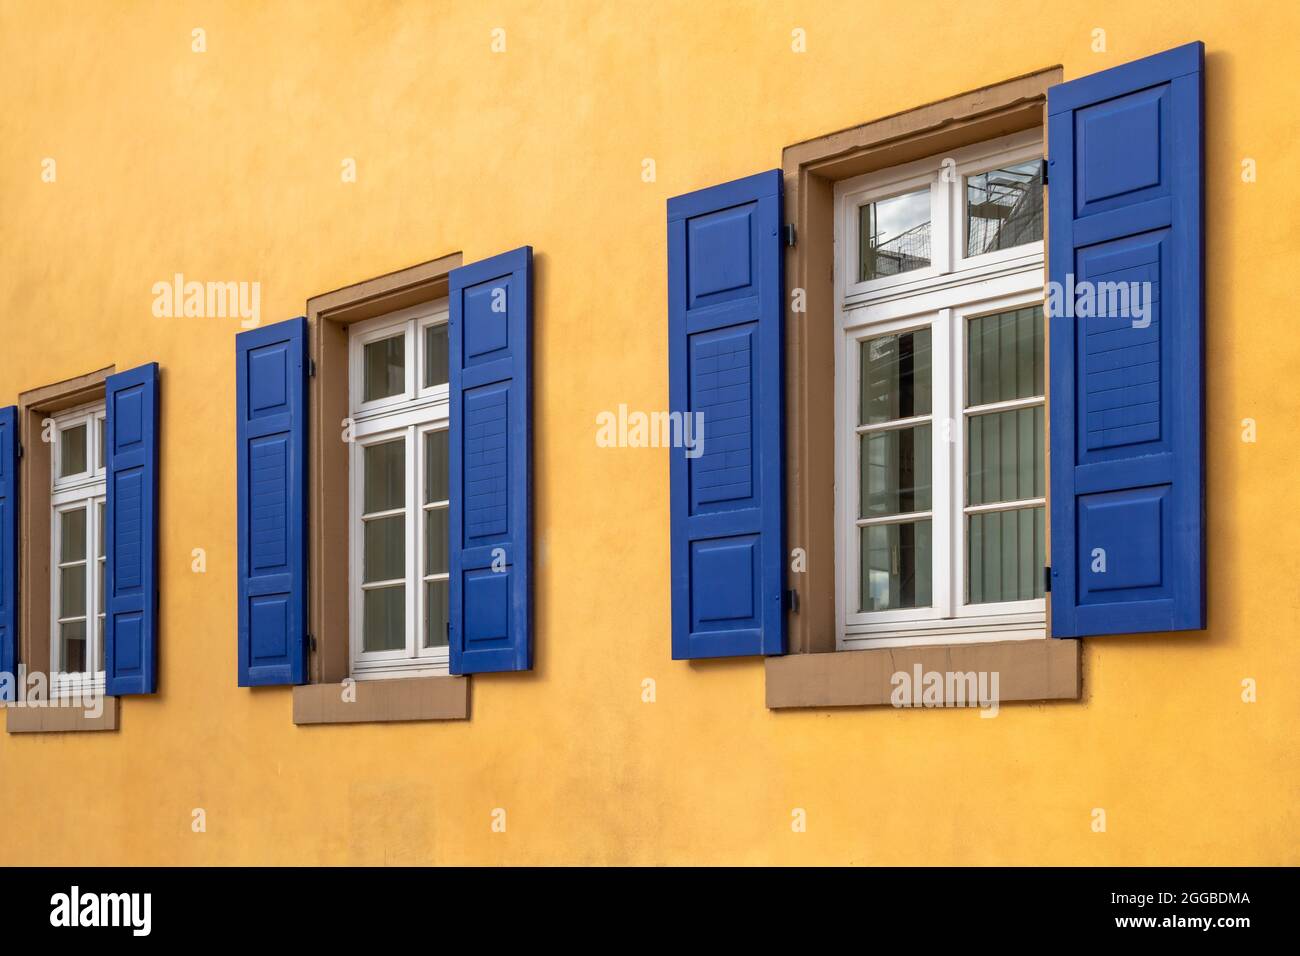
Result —
[{"label": "brown stone surround with sill of the middle window", "polygon": [[[294,688],[295,723],[429,721],[469,715],[468,678],[358,682],[356,700],[342,702],[348,676],[347,326],[447,295],[460,265],[454,252],[307,300],[309,352],[316,376],[308,388],[311,684]],[[329,688],[316,685],[333,685]],[[364,684],[364,687],[361,687]],[[326,700],[328,698],[328,700]]]}]

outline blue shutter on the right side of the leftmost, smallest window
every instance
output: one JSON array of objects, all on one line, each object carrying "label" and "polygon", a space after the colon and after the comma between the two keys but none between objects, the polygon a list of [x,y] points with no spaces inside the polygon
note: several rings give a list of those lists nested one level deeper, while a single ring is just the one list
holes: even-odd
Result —
[{"label": "blue shutter on the right side of the leftmost, smallest window", "polygon": [[157,689],[159,367],[108,376],[104,385],[104,691]]}]

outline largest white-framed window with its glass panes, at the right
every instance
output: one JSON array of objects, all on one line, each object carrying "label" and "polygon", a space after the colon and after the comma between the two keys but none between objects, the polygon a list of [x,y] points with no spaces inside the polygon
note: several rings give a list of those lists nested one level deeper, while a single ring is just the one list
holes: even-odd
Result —
[{"label": "largest white-framed window with its glass panes, at the right", "polygon": [[841,648],[1041,637],[1041,139],[836,186]]}]

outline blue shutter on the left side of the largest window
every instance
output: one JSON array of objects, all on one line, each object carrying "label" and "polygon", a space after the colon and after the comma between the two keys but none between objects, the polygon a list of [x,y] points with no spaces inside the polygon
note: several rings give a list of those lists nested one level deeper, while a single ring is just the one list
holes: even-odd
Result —
[{"label": "blue shutter on the left side of the largest window", "polygon": [[779,169],[668,200],[673,659],[785,653],[780,226]]}]

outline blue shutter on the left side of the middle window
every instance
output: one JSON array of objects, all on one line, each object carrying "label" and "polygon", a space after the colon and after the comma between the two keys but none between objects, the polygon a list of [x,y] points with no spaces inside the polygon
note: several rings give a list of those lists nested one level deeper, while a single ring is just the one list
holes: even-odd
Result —
[{"label": "blue shutter on the left side of the middle window", "polygon": [[240,687],[307,680],[307,368],[304,317],[235,336]]}]

